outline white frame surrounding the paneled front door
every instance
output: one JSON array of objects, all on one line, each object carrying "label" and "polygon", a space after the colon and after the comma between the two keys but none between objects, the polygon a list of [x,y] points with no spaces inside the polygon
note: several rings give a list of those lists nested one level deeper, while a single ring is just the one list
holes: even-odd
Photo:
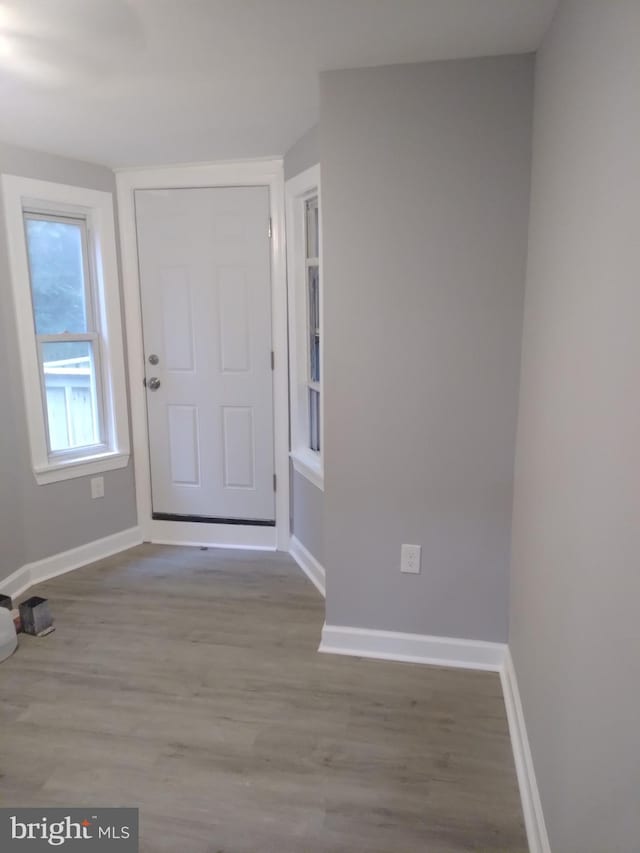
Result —
[{"label": "white frame surrounding the paneled front door", "polygon": [[[225,548],[289,550],[289,388],[287,353],[287,275],[284,226],[284,176],[281,159],[196,163],[116,173],[122,249],[124,305],[131,390],[133,461],[138,524],[146,542],[211,545]],[[274,351],[274,462],[277,479],[276,526],[155,521],[151,518],[151,465],[143,387],[144,350],[134,191],[188,187],[268,186],[271,206],[271,300]]]}]

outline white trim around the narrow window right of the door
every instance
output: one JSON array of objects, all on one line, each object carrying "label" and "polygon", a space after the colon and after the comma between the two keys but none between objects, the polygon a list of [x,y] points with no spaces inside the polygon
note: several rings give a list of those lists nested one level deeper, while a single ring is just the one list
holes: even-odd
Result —
[{"label": "white trim around the narrow window right of the door", "polygon": [[[304,243],[304,202],[318,195],[320,210],[320,452],[308,445],[307,405],[307,283]],[[287,271],[289,278],[289,376],[291,383],[291,452],[294,470],[324,491],[324,287],[322,269],[322,199],[320,166],[312,166],[285,184],[287,222]],[[305,414],[306,412],[306,414]]]}]

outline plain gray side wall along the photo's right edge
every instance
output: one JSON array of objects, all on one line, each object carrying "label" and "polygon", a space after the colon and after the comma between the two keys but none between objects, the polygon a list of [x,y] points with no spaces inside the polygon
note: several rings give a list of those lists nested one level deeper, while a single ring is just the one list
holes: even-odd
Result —
[{"label": "plain gray side wall along the photo's right edge", "polygon": [[556,853],[640,845],[639,33],[561,3],[536,69],[509,644]]}]

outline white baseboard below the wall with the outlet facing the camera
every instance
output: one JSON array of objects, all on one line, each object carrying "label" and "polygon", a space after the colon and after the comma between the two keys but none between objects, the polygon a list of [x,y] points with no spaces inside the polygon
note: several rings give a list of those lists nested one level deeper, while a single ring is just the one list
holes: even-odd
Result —
[{"label": "white baseboard below the wall with the outlet facing the camera", "polygon": [[325,624],[318,651],[333,655],[500,672],[506,649],[504,643],[488,643],[483,640],[402,634],[397,631]]}]

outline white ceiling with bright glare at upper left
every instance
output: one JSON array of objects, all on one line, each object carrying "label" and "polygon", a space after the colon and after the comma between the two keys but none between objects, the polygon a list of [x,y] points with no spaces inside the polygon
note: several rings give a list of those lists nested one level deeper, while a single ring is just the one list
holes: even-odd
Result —
[{"label": "white ceiling with bright glare at upper left", "polygon": [[535,50],[557,0],[0,0],[0,139],[109,166],[283,154],[318,72]]}]

